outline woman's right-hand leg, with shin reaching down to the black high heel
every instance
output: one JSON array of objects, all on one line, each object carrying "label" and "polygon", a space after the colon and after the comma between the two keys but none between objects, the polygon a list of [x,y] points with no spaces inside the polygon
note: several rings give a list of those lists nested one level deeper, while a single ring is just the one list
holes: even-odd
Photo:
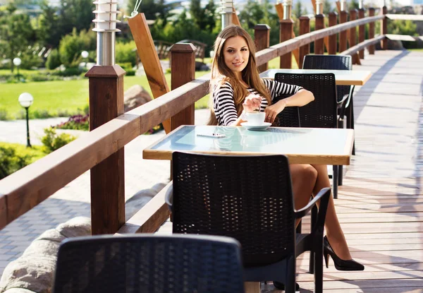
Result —
[{"label": "woman's right-hand leg, with shin reaching down to the black high heel", "polygon": [[[330,187],[331,183],[329,181],[326,165],[312,165],[312,167],[317,170],[316,185],[313,189],[313,194],[316,195],[321,189]],[[348,249],[347,241],[345,240],[341,225],[339,224],[332,196],[329,198],[324,226],[326,228],[326,237],[328,237],[329,243],[336,255],[344,261],[350,260],[350,250]]]}]

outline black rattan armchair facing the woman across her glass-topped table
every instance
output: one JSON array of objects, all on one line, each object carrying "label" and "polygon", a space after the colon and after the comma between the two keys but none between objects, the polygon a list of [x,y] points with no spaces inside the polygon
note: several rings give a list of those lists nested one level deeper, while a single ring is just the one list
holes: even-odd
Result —
[{"label": "black rattan armchair facing the woman across her glass-topped table", "polygon": [[[323,231],[330,189],[301,210],[293,208],[288,159],[283,155],[226,156],[175,152],[173,188],[166,202],[173,233],[233,237],[242,247],[246,282],[273,280],[295,292],[295,258],[311,251],[315,292],[322,292]],[[298,234],[295,219],[320,199],[317,225]]]}]

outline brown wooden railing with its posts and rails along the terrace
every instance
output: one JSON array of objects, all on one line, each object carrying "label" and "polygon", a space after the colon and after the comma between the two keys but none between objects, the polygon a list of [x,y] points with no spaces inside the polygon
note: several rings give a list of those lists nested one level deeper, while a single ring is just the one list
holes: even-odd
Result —
[{"label": "brown wooden railing with its posts and rails along the terrace", "polygon": [[[386,14],[386,8],[383,9],[383,11]],[[271,59],[289,54],[298,48],[301,48],[300,52],[302,52],[302,56],[304,56],[304,54],[309,53],[307,52],[307,44],[311,42],[316,42],[324,37],[355,29],[360,25],[366,25],[367,23],[372,24],[377,20],[381,20],[382,22],[382,32],[379,37],[372,37],[370,40],[366,40],[350,47],[350,49],[344,50],[341,54],[355,54],[355,52],[364,49],[364,47],[381,41],[382,48],[386,49],[386,44],[384,44],[386,17],[384,15],[369,16],[348,23],[333,25],[330,28],[307,32],[271,47],[268,47],[269,40],[266,40],[266,35],[268,38],[269,34],[262,34],[262,37],[259,38],[257,47],[265,49],[257,52],[257,65],[263,66]],[[331,23],[333,24],[333,20]],[[372,32],[374,26],[370,28],[371,32],[369,35],[372,36],[374,35],[374,31]],[[340,39],[341,42],[344,42],[341,37]],[[336,44],[334,45],[333,42],[336,42],[336,37],[329,38],[329,47],[336,47]],[[340,45],[340,47],[342,46]],[[346,48],[346,44],[344,47]],[[181,49],[177,52],[186,53],[188,51]],[[118,178],[119,173],[117,170],[123,169],[122,157],[124,145],[166,119],[173,119],[172,128],[176,128],[178,125],[182,124],[192,124],[194,118],[192,110],[193,104],[204,97],[204,95],[207,95],[209,91],[209,75],[192,80],[193,73],[190,68],[195,64],[195,52],[191,50],[188,55],[188,59],[181,60],[179,63],[176,61],[174,62],[176,58],[172,58],[172,88],[176,88],[184,83],[183,85],[125,114],[119,114],[121,112],[121,102],[123,103],[123,100],[121,101],[123,95],[123,78],[121,77],[123,73],[121,73],[120,67],[109,66],[110,68],[108,68],[108,70],[110,69],[110,72],[108,71],[103,74],[103,78],[106,78],[106,82],[104,82],[104,80],[99,82],[95,79],[99,78],[99,76],[96,75],[96,71],[101,69],[99,67],[87,73],[87,76],[90,77],[90,108],[92,107],[90,111],[93,111],[90,112],[90,126],[92,126],[94,130],[90,131],[89,135],[74,140],[72,143],[63,146],[63,148],[56,150],[54,153],[43,157],[37,162],[20,169],[18,172],[0,181],[0,229],[20,215],[26,213],[28,210],[34,208],[35,205],[44,201],[63,186],[66,186],[66,184],[73,181],[73,179],[87,170],[92,169],[91,205],[93,234],[156,231],[168,217],[168,209],[164,204],[164,193],[168,186],[160,191],[144,208],[125,223],[123,217],[125,209],[124,205],[121,206],[124,201],[121,186],[116,194],[108,193],[106,184],[110,184],[110,182],[102,181],[101,176],[96,177],[96,175],[93,175],[93,168],[97,168],[107,161],[109,165],[106,164],[106,166],[103,166],[103,173],[100,172],[100,174],[106,172],[109,180],[116,180],[116,182],[118,182],[118,180],[122,181],[122,178]],[[178,55],[178,59],[179,58],[185,57]],[[102,87],[102,85],[105,84],[108,86]],[[110,86],[110,84],[114,86]],[[108,92],[110,88],[113,88],[113,94]],[[100,95],[98,94],[99,92],[101,93]],[[115,95],[116,92],[118,93],[117,96]],[[113,107],[117,109],[115,114],[111,114],[111,117],[104,117],[101,116],[102,113],[95,112],[95,105],[104,107],[104,105],[99,102],[101,99],[104,100],[104,98],[109,100],[116,99],[117,101],[111,101]],[[183,115],[181,115],[181,113],[183,113]],[[116,158],[116,160],[111,160],[119,152],[121,152],[121,157]],[[98,170],[95,172],[97,171]],[[148,172],[148,170],[146,170],[146,172]],[[99,186],[103,184],[106,187]],[[114,184],[114,182],[111,184]],[[115,185],[119,184],[121,183],[116,183]],[[98,193],[99,187],[102,187],[102,191],[108,194]],[[116,200],[116,198],[118,198],[118,200]],[[107,206],[102,205],[103,203],[106,203]],[[119,206],[114,205],[114,203]],[[99,210],[102,207],[106,210]]]}]

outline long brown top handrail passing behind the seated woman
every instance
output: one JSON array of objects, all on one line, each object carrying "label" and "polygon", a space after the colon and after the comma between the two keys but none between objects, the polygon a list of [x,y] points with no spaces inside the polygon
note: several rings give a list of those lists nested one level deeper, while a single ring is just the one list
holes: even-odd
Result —
[{"label": "long brown top handrail passing behind the seated woman", "polygon": [[[265,64],[271,59],[322,37],[372,23],[384,17],[372,16],[353,20],[276,44],[257,52],[257,65]],[[379,38],[382,37],[384,36]],[[102,162],[106,157],[116,153],[140,134],[200,100],[201,97],[207,95],[208,90],[209,74],[206,74],[112,119],[94,131],[90,131],[88,136],[79,138],[2,179],[0,181],[0,229]],[[46,184],[47,182],[49,184]]]}]

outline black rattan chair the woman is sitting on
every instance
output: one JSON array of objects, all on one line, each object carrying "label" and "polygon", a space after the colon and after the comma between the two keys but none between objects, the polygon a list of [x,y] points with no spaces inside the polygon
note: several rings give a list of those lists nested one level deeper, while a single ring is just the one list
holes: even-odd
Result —
[{"label": "black rattan chair the woman is sitting on", "polygon": [[[290,112],[286,112],[284,109],[278,115],[276,122],[278,126],[338,128],[338,104],[336,102],[335,75],[333,73],[276,73],[275,80],[281,83],[300,85],[314,95],[314,101],[303,107],[293,107]],[[274,102],[283,97],[276,97]],[[286,121],[294,121],[295,119],[299,119],[298,125],[291,122],[285,124]],[[333,198],[338,198],[338,177],[342,177],[342,173],[342,166],[333,166]]]}]

